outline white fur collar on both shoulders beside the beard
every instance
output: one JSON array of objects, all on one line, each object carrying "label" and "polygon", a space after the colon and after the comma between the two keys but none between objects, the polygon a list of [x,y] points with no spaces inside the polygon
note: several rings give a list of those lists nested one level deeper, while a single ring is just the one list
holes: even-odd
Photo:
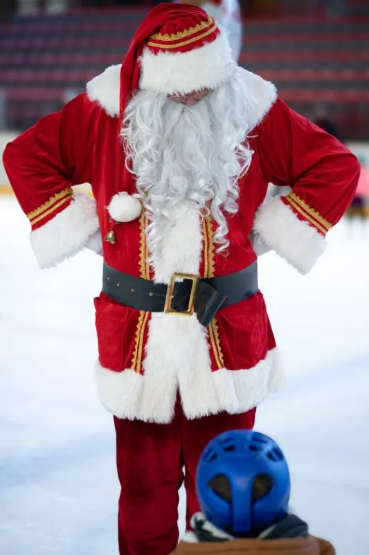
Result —
[{"label": "white fur collar on both shoulders beside the beard", "polygon": [[[277,92],[273,83],[239,67],[249,88],[253,112],[247,121],[248,131],[253,129],[271,109]],[[110,117],[119,115],[120,64],[111,65],[87,83],[87,96],[91,102],[98,102]]]}]

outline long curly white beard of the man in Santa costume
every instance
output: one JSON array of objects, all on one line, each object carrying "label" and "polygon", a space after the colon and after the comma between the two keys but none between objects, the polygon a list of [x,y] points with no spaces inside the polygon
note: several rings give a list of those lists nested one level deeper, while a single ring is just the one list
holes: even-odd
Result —
[{"label": "long curly white beard of the man in Santa costume", "polygon": [[150,253],[160,250],[188,202],[217,222],[217,252],[228,247],[226,214],[238,210],[238,180],[253,154],[246,143],[248,97],[236,69],[231,80],[191,107],[146,90],[127,105],[121,135],[150,221]]}]

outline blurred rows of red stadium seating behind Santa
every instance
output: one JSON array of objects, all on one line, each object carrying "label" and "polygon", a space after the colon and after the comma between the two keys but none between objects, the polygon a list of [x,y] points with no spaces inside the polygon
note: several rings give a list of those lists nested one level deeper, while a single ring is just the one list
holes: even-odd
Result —
[{"label": "blurred rows of red stadium seating behind Santa", "polygon": [[[145,10],[76,10],[0,25],[0,93],[6,126],[24,129],[58,110],[105,67],[119,63]],[[345,139],[368,139],[369,33],[359,19],[244,24],[240,63],[313,117],[324,102]]]}]

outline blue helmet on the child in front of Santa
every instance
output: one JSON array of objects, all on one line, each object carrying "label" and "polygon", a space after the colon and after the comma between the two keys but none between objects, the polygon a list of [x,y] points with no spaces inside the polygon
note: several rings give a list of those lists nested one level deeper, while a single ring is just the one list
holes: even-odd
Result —
[{"label": "blue helmet on the child in front of Santa", "polygon": [[[215,486],[222,481],[228,495]],[[261,495],[255,495],[258,481],[264,484]],[[270,527],[287,513],[291,484],[285,456],[273,439],[235,430],[210,441],[197,467],[196,488],[206,518],[242,537]]]}]

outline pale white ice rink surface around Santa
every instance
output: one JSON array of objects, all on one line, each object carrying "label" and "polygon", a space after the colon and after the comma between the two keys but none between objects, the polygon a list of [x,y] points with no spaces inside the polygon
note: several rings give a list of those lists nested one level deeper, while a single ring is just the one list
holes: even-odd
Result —
[{"label": "pale white ice rink surface around Santa", "polygon": [[[116,555],[114,430],[93,377],[102,261],[39,271],[28,228],[0,198],[0,554]],[[337,226],[306,277],[265,255],[260,289],[287,384],[256,427],[285,450],[311,531],[368,555],[369,226]]]}]

